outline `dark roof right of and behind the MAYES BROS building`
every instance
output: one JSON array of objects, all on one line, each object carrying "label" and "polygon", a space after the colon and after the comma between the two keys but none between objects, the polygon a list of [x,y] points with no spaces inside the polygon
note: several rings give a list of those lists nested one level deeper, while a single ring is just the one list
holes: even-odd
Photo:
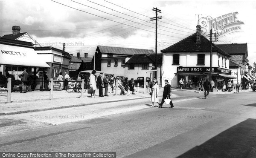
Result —
[{"label": "dark roof right of and behind the MAYES BROS building", "polygon": [[247,43],[241,44],[217,44],[220,49],[224,50],[230,55],[245,54],[247,56]]}]

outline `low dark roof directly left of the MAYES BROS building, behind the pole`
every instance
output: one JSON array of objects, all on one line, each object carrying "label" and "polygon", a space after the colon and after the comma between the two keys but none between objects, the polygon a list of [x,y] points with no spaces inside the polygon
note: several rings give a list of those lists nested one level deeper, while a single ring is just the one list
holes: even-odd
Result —
[{"label": "low dark roof directly left of the MAYES BROS building, behind the pole", "polygon": [[[163,54],[157,54],[157,63],[162,63]],[[155,54],[133,55],[126,63],[155,63]]]}]

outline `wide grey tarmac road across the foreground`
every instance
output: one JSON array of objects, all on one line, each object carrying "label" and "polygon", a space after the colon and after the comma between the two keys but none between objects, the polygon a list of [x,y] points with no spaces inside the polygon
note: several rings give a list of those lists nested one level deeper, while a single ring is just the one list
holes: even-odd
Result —
[{"label": "wide grey tarmac road across the foreground", "polygon": [[163,109],[150,108],[148,99],[116,102],[113,104],[126,109],[143,108],[2,134],[0,151],[116,152],[117,157],[147,158],[255,157],[254,96],[244,92],[188,98],[175,102],[174,108]]}]

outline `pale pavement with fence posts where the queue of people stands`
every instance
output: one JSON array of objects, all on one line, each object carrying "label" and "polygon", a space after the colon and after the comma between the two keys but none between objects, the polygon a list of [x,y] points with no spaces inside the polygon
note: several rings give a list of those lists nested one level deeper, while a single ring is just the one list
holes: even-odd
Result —
[{"label": "pale pavement with fence posts where the queue of people stands", "polygon": [[[110,90],[110,89],[109,89]],[[150,98],[151,96],[146,93],[144,94],[143,88],[137,89],[139,92],[135,92],[135,95],[119,95],[120,90],[118,89],[117,94],[108,93],[109,97],[99,97],[99,90],[96,90],[96,98],[91,98],[90,94],[85,92],[83,97],[81,97],[81,93],[79,92],[71,92],[68,93],[64,90],[53,91],[53,99],[49,99],[49,91],[32,91],[27,93],[19,93],[12,92],[11,103],[6,103],[7,94],[0,94],[0,115],[15,115],[27,112],[39,112],[39,111],[47,111],[52,109],[64,109],[70,107],[78,107],[78,106],[87,106],[93,104],[100,103],[113,103],[118,101],[129,101],[143,98]],[[190,91],[190,92],[199,92],[195,89],[172,89],[177,91]],[[163,88],[159,88],[160,97],[163,94]],[[242,90],[240,92],[248,92],[252,90]],[[115,92],[115,91],[114,91]],[[228,95],[233,92],[212,92],[215,94],[223,94]],[[103,89],[104,93],[104,89]],[[203,93],[203,92],[202,92]],[[172,95],[172,98],[178,98],[178,95]]]}]

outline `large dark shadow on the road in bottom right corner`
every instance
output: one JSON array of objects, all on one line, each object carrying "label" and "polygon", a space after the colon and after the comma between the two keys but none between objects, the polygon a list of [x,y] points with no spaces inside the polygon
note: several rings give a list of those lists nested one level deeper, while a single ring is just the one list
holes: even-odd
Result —
[{"label": "large dark shadow on the road in bottom right corner", "polygon": [[247,119],[177,158],[256,158],[255,125],[256,119]]}]

